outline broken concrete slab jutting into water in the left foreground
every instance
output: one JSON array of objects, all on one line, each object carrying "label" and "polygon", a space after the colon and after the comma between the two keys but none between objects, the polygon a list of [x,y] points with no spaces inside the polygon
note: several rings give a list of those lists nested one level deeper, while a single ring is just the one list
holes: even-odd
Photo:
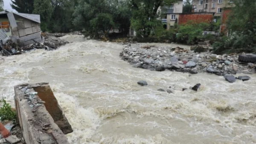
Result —
[{"label": "broken concrete slab jutting into water in the left foreground", "polygon": [[48,83],[15,86],[14,99],[26,144],[69,144],[72,127]]}]

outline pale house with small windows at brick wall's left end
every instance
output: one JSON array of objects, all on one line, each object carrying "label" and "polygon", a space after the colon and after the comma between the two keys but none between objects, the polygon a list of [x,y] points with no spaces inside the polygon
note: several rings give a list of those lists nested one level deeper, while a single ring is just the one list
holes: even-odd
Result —
[{"label": "pale house with small windows at brick wall's left end", "polygon": [[[164,6],[159,8],[158,11],[162,13],[162,23],[165,29],[169,29],[175,25],[175,22],[179,19],[179,14],[183,10],[183,0],[178,0],[170,6]],[[177,19],[177,20],[176,20]]]}]

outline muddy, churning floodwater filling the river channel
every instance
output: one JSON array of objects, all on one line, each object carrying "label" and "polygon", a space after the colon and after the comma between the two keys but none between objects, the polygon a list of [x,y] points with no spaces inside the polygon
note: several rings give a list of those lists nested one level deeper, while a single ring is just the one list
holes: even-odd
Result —
[{"label": "muddy, churning floodwater filling the river channel", "polygon": [[[256,75],[230,84],[216,75],[137,69],[119,58],[123,45],[62,39],[73,43],[0,60],[0,92],[14,106],[15,85],[49,82],[74,129],[71,144],[256,143]],[[181,91],[197,83],[199,92]],[[157,91],[169,86],[174,93]]]}]

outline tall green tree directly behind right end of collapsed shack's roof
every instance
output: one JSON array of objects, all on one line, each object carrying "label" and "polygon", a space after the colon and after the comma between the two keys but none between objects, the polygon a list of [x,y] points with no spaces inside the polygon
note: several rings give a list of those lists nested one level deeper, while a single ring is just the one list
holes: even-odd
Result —
[{"label": "tall green tree directly behind right end of collapsed shack's roof", "polygon": [[52,16],[52,5],[50,0],[35,0],[33,14],[40,14],[42,31],[48,30],[48,23]]}]

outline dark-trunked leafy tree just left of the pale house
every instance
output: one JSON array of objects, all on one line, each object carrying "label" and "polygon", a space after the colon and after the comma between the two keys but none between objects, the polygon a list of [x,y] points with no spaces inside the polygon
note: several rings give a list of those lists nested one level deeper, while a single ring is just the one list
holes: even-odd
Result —
[{"label": "dark-trunked leafy tree just left of the pale house", "polygon": [[157,13],[160,6],[169,6],[176,0],[130,0],[132,9],[131,27],[138,35],[148,37],[155,28],[161,25],[157,20],[160,14]]}]

